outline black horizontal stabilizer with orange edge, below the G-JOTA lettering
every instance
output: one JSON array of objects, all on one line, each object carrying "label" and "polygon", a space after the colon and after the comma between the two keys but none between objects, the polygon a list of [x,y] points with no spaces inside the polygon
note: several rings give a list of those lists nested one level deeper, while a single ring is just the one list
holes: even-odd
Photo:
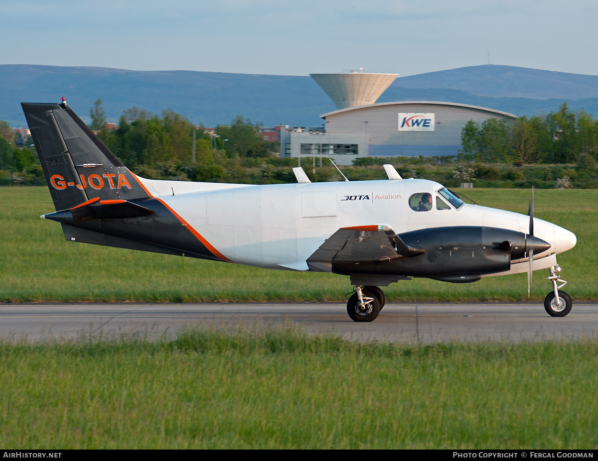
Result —
[{"label": "black horizontal stabilizer with orange edge, below the G-JOTA lettering", "polygon": [[123,219],[154,214],[154,210],[126,200],[91,199],[70,210],[44,214],[42,217],[60,223],[77,225],[88,219]]}]

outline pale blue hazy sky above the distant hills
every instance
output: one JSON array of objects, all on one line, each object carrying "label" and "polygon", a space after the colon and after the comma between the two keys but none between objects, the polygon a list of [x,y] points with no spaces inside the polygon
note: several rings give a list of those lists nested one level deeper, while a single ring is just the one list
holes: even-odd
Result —
[{"label": "pale blue hazy sky above the distant hills", "polygon": [[0,64],[403,76],[488,62],[598,75],[594,0],[0,0]]}]

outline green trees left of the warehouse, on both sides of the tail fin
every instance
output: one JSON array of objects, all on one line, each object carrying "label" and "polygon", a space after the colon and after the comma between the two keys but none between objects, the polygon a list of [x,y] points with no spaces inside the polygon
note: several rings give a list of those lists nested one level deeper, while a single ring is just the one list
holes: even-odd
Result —
[{"label": "green trees left of the warehouse, on both sides of the tail fin", "polygon": [[[139,107],[124,110],[118,124],[110,127],[102,99],[94,102],[89,115],[89,127],[100,140],[127,167],[150,179],[226,182],[243,179],[243,168],[263,163],[258,159],[277,161],[279,144],[264,142],[261,122],[243,115],[209,132],[172,109],[157,115]],[[0,121],[0,180],[43,179],[30,137],[19,140],[23,147],[15,141],[8,123]],[[252,180],[260,182],[264,177]]]}]

